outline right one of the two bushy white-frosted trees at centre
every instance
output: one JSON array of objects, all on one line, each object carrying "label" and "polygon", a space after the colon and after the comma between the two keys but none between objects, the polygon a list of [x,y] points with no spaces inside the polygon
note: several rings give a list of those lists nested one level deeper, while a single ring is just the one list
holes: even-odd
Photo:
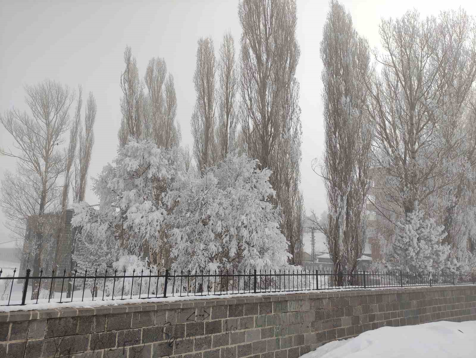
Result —
[{"label": "right one of the two bushy white-frosted trees at centre", "polygon": [[171,254],[177,270],[278,269],[287,264],[287,242],[271,172],[257,161],[228,154],[201,178],[184,177],[169,194]]}]

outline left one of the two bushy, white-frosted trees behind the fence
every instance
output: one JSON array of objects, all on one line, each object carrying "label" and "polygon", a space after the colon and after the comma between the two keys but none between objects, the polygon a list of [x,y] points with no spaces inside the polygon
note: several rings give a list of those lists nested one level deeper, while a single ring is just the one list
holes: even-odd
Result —
[{"label": "left one of the two bushy, white-frosted trees behind the fence", "polygon": [[81,227],[80,235],[117,242],[116,256],[148,255],[151,262],[161,263],[166,242],[160,233],[167,215],[163,194],[178,165],[172,153],[150,141],[130,141],[119,148],[113,164],[93,180],[99,210],[86,202],[74,206],[71,223]]}]

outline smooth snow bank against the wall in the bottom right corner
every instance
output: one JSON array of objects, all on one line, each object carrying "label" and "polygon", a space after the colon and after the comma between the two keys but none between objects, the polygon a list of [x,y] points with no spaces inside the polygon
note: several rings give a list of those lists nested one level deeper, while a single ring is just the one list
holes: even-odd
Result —
[{"label": "smooth snow bank against the wall in the bottom right corner", "polygon": [[476,321],[381,327],[325,344],[301,358],[474,358]]}]

